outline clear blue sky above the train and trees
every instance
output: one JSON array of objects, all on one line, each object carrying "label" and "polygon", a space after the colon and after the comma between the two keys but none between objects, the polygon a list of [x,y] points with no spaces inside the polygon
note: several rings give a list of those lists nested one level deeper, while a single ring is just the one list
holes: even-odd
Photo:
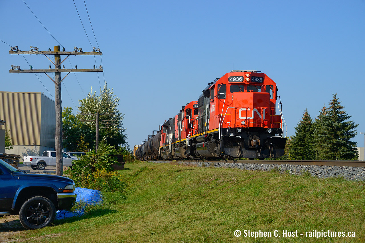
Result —
[{"label": "clear blue sky above the train and trees", "polygon": [[[72,0],[24,1],[61,48],[97,47],[83,0],[75,3],[92,44]],[[103,52],[104,75],[99,73],[99,82],[96,73],[70,74],[63,81],[62,106],[76,112],[78,100],[91,86],[99,93],[105,78],[120,98],[131,148],[233,69],[262,71],[277,83],[288,135],[306,108],[315,118],[333,93],[359,124],[357,131],[365,132],[364,0],[85,2]],[[0,13],[0,39],[11,46],[53,50],[58,45],[22,0],[0,0]],[[29,68],[9,50],[0,42],[0,90],[54,97],[46,75],[38,76],[45,88],[34,74],[9,74],[11,64]],[[37,69],[50,65],[44,56],[25,58]],[[70,56],[70,62],[65,68],[95,65],[92,56]],[[353,141],[362,147],[363,138],[358,134]]]}]

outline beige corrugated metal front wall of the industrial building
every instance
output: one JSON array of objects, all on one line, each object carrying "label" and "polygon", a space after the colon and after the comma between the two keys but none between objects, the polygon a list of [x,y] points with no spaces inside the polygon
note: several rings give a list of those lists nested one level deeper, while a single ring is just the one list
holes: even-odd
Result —
[{"label": "beige corrugated metal front wall of the industrial building", "polygon": [[10,128],[14,145],[40,145],[41,93],[0,91],[0,128]]}]

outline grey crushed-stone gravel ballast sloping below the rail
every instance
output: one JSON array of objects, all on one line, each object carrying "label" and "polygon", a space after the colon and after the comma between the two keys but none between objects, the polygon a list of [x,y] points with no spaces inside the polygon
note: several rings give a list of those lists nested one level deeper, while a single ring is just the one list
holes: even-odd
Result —
[{"label": "grey crushed-stone gravel ballast sloping below the rail", "polygon": [[[154,163],[169,163],[171,161],[151,161]],[[308,171],[312,176],[318,178],[327,177],[344,177],[350,180],[365,180],[365,167],[351,166],[328,166],[328,165],[273,165],[273,164],[245,164],[245,163],[227,163],[227,162],[194,162],[194,161],[174,161],[178,164],[195,165],[199,167],[215,168],[236,168],[247,171],[272,171],[277,170],[280,173],[290,175],[302,175]],[[203,165],[204,163],[204,165]]]}]

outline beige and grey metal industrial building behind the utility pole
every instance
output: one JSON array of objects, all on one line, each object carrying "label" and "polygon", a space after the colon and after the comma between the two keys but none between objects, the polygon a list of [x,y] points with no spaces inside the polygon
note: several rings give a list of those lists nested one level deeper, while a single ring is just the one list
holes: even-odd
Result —
[{"label": "beige and grey metal industrial building behind the utility pole", "polygon": [[10,129],[14,148],[5,153],[41,155],[55,148],[55,102],[43,93],[0,91],[0,118]]}]

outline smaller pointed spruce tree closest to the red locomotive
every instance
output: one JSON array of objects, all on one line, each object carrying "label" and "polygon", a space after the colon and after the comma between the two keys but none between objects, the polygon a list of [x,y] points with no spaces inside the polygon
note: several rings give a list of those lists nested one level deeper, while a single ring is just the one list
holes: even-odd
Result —
[{"label": "smaller pointed spruce tree closest to the red locomotive", "polygon": [[302,119],[295,127],[295,135],[291,137],[289,148],[289,159],[291,160],[314,160],[313,144],[313,120],[308,114],[308,109],[304,111]]}]

